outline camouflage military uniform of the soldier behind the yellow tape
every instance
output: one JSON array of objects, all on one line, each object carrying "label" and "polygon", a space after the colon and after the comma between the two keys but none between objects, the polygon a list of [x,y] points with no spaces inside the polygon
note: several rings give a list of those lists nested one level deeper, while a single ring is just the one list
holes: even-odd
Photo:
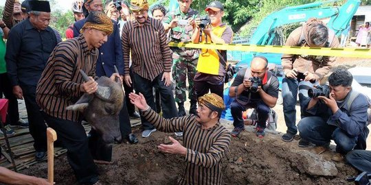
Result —
[{"label": "camouflage military uniform of the soldier behind the yellow tape", "polygon": [[[188,18],[196,18],[199,12],[192,10],[191,8],[185,14],[181,12],[180,8],[174,12],[169,12],[164,18],[164,23],[170,24],[170,22],[177,18],[178,20],[188,20]],[[192,25],[178,25],[170,29],[170,42],[190,42],[193,27]],[[193,78],[196,74],[196,65],[199,58],[198,49],[186,49],[179,47],[171,47],[172,49],[172,77],[175,79],[175,101],[183,103],[186,101],[186,75],[188,74],[189,93],[188,98],[191,100],[191,104],[196,104],[196,93],[193,85]],[[191,112],[192,113],[192,112]]]}]

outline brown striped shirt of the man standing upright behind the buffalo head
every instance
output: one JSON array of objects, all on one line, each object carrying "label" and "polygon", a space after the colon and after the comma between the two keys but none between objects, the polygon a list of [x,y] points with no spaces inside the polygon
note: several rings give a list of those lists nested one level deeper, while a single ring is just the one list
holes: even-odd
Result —
[{"label": "brown striped shirt of the man standing upright behind the buffalo head", "polygon": [[129,74],[130,53],[133,72],[150,81],[171,71],[172,53],[161,21],[150,17],[143,25],[128,21],[122,28],[121,42],[125,75]]}]

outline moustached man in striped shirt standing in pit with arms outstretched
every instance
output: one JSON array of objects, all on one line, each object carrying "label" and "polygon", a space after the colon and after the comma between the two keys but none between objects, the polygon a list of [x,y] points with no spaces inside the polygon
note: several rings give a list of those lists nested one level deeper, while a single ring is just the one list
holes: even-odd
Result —
[{"label": "moustached man in striped shirt standing in pit with arms outstretched", "polygon": [[178,184],[223,184],[221,159],[229,149],[231,135],[219,123],[225,109],[223,99],[211,93],[199,97],[196,115],[164,119],[147,105],[142,93],[130,93],[129,98],[142,116],[161,132],[182,132],[183,145],[169,137],[171,145],[159,145],[166,153],[185,157],[186,169]]}]

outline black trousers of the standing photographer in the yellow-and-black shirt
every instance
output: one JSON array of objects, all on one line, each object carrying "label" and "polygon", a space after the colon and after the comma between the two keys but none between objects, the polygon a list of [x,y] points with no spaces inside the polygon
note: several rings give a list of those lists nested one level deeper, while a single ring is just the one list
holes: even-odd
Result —
[{"label": "black trousers of the standing photographer in the yellow-and-black shirt", "polygon": [[210,84],[209,82],[196,82],[194,81],[194,89],[196,90],[197,98],[202,97],[203,95],[209,93],[215,93],[223,98],[224,84]]}]

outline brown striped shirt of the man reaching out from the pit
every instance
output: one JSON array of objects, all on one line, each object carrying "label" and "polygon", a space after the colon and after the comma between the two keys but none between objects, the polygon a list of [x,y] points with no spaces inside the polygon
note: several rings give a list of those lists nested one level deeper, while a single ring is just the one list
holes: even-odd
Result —
[{"label": "brown striped shirt of the man reaching out from the pit", "polygon": [[203,130],[193,114],[164,119],[149,110],[143,112],[143,116],[161,132],[183,132],[183,146],[188,151],[186,168],[179,177],[179,184],[223,184],[221,160],[231,142],[231,135],[225,127],[217,123]]}]

